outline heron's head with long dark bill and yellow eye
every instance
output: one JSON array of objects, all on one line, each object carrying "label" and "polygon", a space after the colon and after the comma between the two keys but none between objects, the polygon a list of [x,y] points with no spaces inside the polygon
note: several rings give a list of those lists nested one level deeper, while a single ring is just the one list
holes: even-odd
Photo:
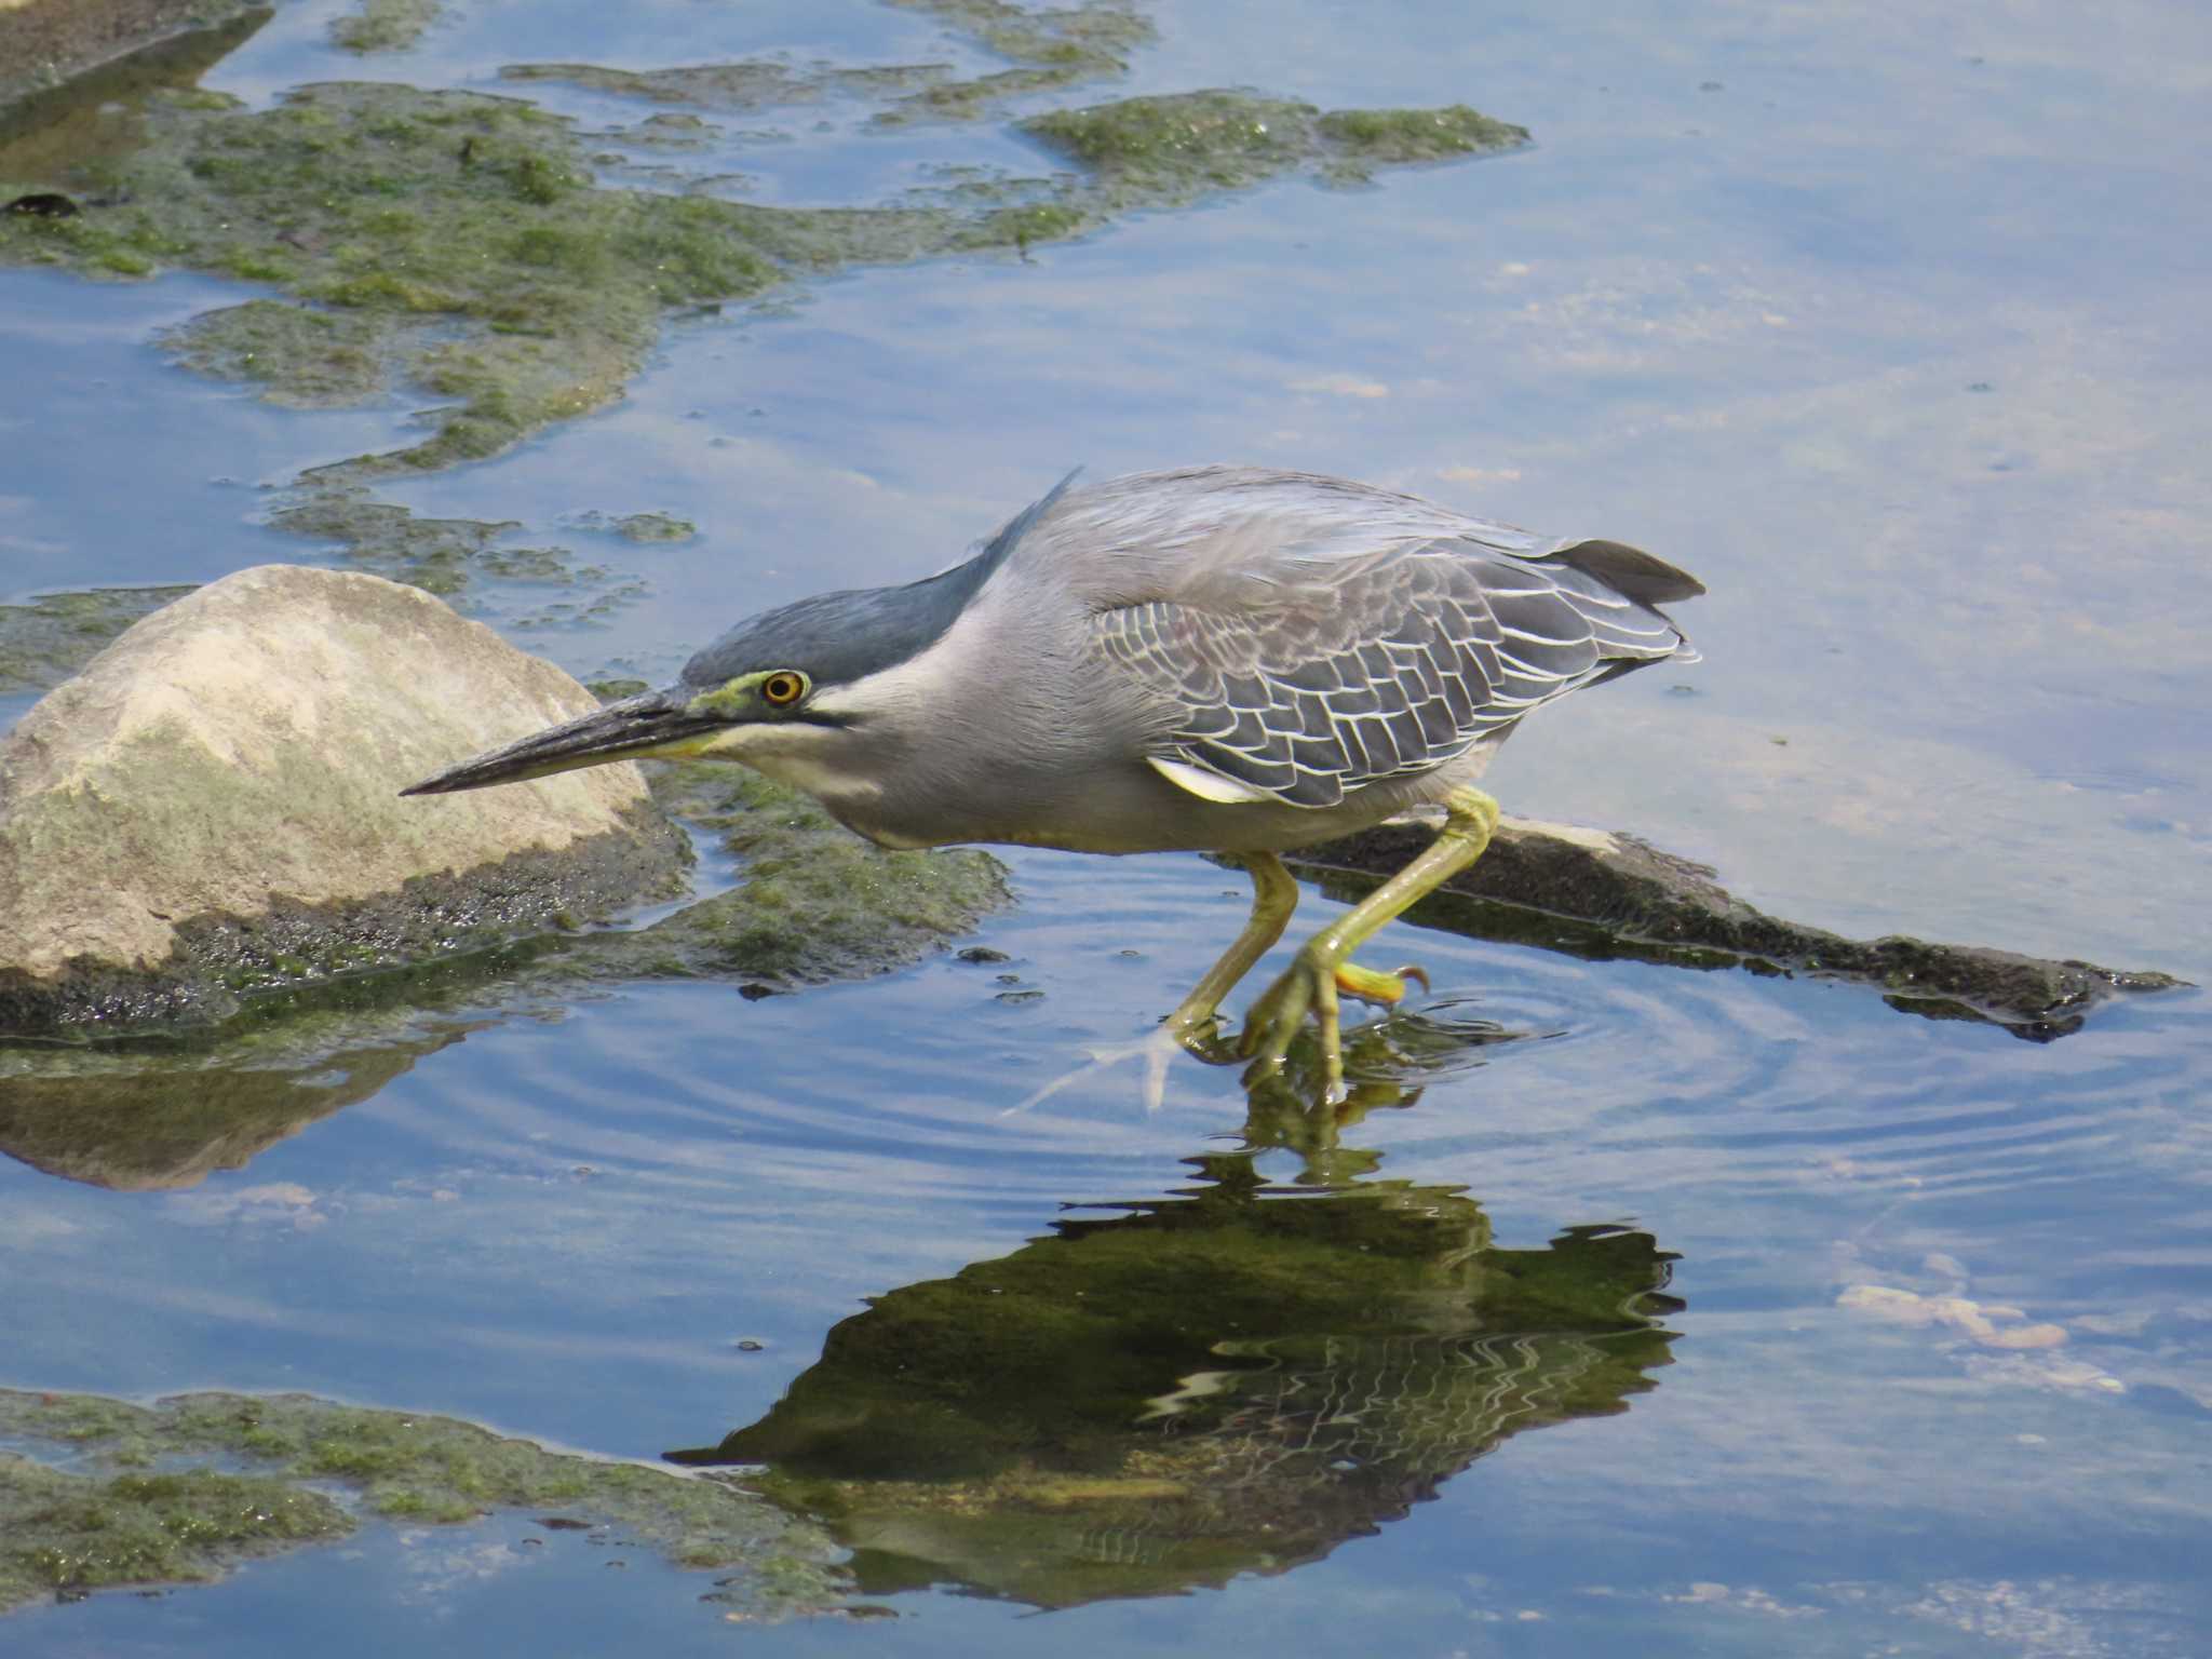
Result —
[{"label": "heron's head with long dark bill and yellow eye", "polygon": [[[533,732],[400,794],[520,783],[606,761],[712,754],[821,792],[865,783],[860,739],[911,703],[967,593],[949,571],[902,588],[823,593],[741,622],[666,690]],[[843,761],[843,765],[841,765]]]}]

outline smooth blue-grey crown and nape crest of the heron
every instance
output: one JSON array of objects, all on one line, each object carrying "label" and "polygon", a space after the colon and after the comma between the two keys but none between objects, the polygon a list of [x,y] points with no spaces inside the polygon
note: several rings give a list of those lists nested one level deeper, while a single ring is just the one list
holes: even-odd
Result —
[{"label": "smooth blue-grey crown and nape crest of the heron", "polygon": [[896,588],[816,593],[748,617],[684,664],[684,684],[712,688],[765,668],[799,668],[816,686],[849,686],[920,657],[945,637],[1071,482],[1075,473],[1009,520],[975,557],[949,571]]}]

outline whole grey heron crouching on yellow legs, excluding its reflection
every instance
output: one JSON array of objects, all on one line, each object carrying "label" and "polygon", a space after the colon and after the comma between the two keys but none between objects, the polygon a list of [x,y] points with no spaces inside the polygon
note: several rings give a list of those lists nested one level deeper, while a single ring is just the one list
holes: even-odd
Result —
[{"label": "whole grey heron crouching on yellow legs, excluding its reflection", "polygon": [[1190,467],[1077,489],[1071,473],[949,571],[768,611],[675,686],[405,794],[708,754],[885,847],[1237,854],[1252,916],[1168,1015],[1201,1053],[1298,902],[1281,854],[1442,807],[1438,838],[1307,940],[1245,1020],[1237,1051],[1267,1071],[1312,1015],[1338,1093],[1338,995],[1398,1002],[1407,973],[1352,953],[1482,856],[1491,754],[1571,690],[1694,657],[1657,606],[1699,593],[1621,542],[1553,542],[1340,478]]}]

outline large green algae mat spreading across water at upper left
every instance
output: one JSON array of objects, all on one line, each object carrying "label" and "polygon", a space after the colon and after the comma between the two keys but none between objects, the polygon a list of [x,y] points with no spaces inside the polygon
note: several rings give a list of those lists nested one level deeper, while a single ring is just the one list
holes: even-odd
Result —
[{"label": "large green algae mat spreading across water at upper left", "polygon": [[[925,9],[978,31],[1024,73],[1106,73],[1141,38],[1141,20],[1119,7]],[[933,66],[515,64],[504,73],[723,106],[827,91],[914,100],[949,88]],[[272,283],[305,305],[259,301],[188,325],[184,356],[303,400],[367,396],[387,372],[440,398],[420,442],[319,469],[316,484],[484,460],[602,409],[644,367],[670,307],[761,299],[799,276],[860,263],[1026,252],[1126,212],[1294,170],[1354,179],[1520,135],[1462,108],[1323,115],[1250,93],[1183,93],[1022,124],[1082,175],[872,208],[765,208],[606,188],[568,119],[478,93],[325,84],[265,111],[221,95],[157,93],[133,119],[131,148],[77,161],[44,153],[35,177],[0,179],[0,190],[77,190],[86,204],[64,219],[9,215],[0,263],[106,276],[181,265]],[[15,166],[13,153],[7,161]]]}]

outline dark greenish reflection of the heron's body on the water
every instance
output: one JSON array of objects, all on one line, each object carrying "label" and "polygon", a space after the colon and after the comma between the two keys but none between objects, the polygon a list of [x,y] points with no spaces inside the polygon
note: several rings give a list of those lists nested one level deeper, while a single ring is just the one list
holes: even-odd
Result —
[{"label": "dark greenish reflection of the heron's body on the water", "polygon": [[1062,1608],[1316,1562],[1655,1387],[1681,1303],[1650,1234],[1502,1250],[1458,1188],[1270,1186],[1254,1150],[1329,1135],[1265,1117],[1168,1199],[894,1290],[765,1418],[668,1455],[765,1464],[748,1484],[830,1524],[863,1595]]}]

